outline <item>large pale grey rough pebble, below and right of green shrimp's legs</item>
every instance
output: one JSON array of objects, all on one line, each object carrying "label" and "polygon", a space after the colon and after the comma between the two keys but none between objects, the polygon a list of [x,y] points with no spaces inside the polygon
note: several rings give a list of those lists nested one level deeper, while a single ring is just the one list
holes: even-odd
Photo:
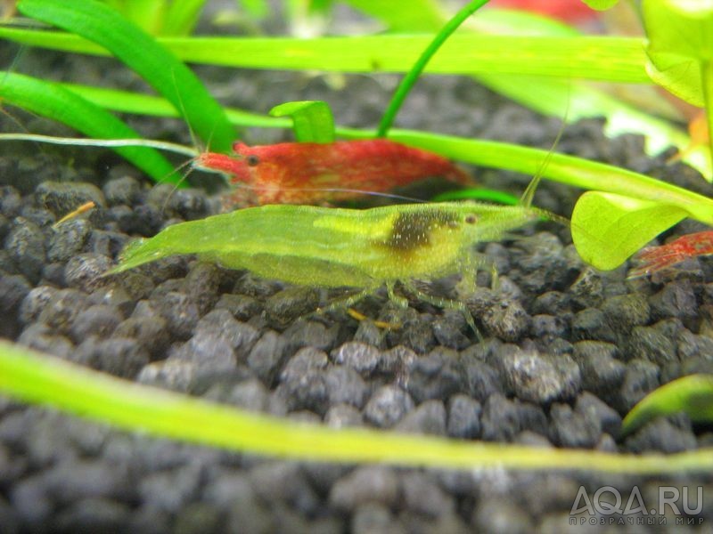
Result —
[{"label": "large pale grey rough pebble, below and right of green shrimp's legs", "polygon": [[578,365],[568,355],[511,351],[500,359],[505,383],[523,401],[547,404],[574,398],[581,387]]}]

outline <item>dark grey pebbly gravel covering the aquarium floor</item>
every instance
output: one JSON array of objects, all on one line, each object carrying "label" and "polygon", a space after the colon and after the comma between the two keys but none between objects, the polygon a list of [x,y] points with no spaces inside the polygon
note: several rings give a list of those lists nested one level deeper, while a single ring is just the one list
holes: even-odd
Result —
[{"label": "dark grey pebbly gravel covering the aquarium floor", "polygon": [[[49,70],[48,55],[27,53],[23,70]],[[110,67],[64,56],[60,69],[76,80],[82,72],[82,79],[101,78]],[[324,99],[343,125],[373,126],[397,81],[347,76],[345,88],[335,90],[324,77],[199,71],[217,79],[217,94],[234,95],[230,104],[265,111],[282,101]],[[104,82],[119,85],[122,76]],[[57,131],[21,117],[33,132]],[[4,131],[17,131],[3,120]],[[181,128],[134,120],[154,137]],[[456,77],[419,82],[398,122],[545,148],[559,128]],[[601,126],[592,120],[568,127],[558,150],[710,195],[690,168],[665,165],[666,155],[647,158],[639,137],[606,140]],[[247,138],[273,142],[278,135],[286,134]],[[152,186],[105,151],[20,143],[0,144],[0,151],[0,336],[143,384],[335,427],[636,453],[713,444],[710,427],[693,427],[684,416],[656,419],[619,438],[622,417],[646,393],[678,376],[713,373],[713,263],[705,258],[666,278],[627,281],[627,266],[594,271],[578,259],[566,229],[539,223],[481,247],[501,278],[493,291],[483,273],[466,299],[485,343],[457,312],[417,300],[404,311],[384,295],[367,299],[359,309],[369,317],[404,325],[386,331],[344,312],[309,316],[328,297],[316,288],[192,257],[99,278],[129,239],[215,213],[219,198]],[[479,182],[512,192],[527,183],[474,171]],[[570,214],[577,194],[545,183],[535,203]],[[53,229],[87,200],[97,204],[91,214]],[[664,238],[694,230],[695,223],[684,223]],[[455,296],[455,281],[428,290]],[[661,485],[693,493],[703,486],[705,498],[713,495],[709,475],[275,461],[117,432],[0,399],[3,533],[581,532],[602,526],[571,524],[580,486],[590,496],[612,486],[625,499],[636,486],[644,500],[655,500]],[[713,528],[713,507],[694,519],[692,530]],[[668,517],[668,529],[674,527]]]}]

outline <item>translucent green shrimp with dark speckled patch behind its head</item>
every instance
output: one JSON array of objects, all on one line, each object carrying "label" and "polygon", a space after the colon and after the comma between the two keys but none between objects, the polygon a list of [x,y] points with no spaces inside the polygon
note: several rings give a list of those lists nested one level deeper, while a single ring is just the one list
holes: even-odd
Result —
[{"label": "translucent green shrimp with dark speckled patch behind its head", "polygon": [[[533,181],[536,182],[536,181]],[[258,206],[179,223],[124,250],[108,274],[127,271],[170,255],[196,254],[229,269],[247,269],[266,279],[313,287],[360,289],[339,305],[351,305],[385,285],[389,298],[401,281],[422,300],[461,310],[478,328],[464,303],[436,298],[410,285],[458,272],[474,277],[491,267],[476,243],[501,239],[505,231],[552,214],[529,206],[531,183],[517,206],[449,202],[355,210],[316,206]],[[329,306],[327,309],[336,307]]]}]

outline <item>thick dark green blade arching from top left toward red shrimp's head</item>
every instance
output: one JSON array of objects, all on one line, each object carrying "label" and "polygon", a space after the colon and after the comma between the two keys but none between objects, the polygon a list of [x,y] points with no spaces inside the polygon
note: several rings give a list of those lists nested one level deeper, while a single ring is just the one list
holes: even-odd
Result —
[{"label": "thick dark green blade arching from top left toward red shrimp's head", "polygon": [[22,0],[20,12],[84,36],[111,51],[180,110],[193,132],[214,150],[230,150],[234,127],[206,88],[181,61],[95,0]]}]

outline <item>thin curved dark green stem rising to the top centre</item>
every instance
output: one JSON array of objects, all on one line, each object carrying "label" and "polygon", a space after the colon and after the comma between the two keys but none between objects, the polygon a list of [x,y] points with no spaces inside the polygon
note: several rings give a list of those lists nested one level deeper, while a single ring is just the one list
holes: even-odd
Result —
[{"label": "thin curved dark green stem rising to the top centre", "polygon": [[433,37],[433,40],[426,47],[426,49],[423,51],[418,60],[416,60],[414,66],[406,74],[406,77],[404,77],[404,79],[401,80],[401,83],[398,85],[396,93],[394,93],[394,96],[389,102],[389,106],[387,106],[386,111],[384,111],[383,117],[381,117],[379,128],[376,131],[377,137],[386,136],[387,132],[389,131],[389,128],[391,127],[394,122],[394,119],[397,116],[398,109],[400,109],[403,105],[404,101],[406,100],[406,96],[411,91],[411,88],[416,83],[416,80],[418,80],[418,78],[421,76],[423,69],[426,68],[426,65],[430,61],[430,58],[432,58],[433,55],[438,52],[438,48],[440,48],[441,45],[447,41],[447,38],[451,36],[451,34],[453,34],[453,32],[455,32],[455,30],[458,29],[461,24],[463,24],[463,22],[465,22],[465,20],[467,20],[468,17],[471,16],[471,14],[478,11],[485,4],[488,4],[488,0],[473,0],[465,7],[463,7],[462,10],[455,13],[455,16],[451,20],[448,20],[447,23],[443,26],[443,28],[438,31],[438,34]]}]

